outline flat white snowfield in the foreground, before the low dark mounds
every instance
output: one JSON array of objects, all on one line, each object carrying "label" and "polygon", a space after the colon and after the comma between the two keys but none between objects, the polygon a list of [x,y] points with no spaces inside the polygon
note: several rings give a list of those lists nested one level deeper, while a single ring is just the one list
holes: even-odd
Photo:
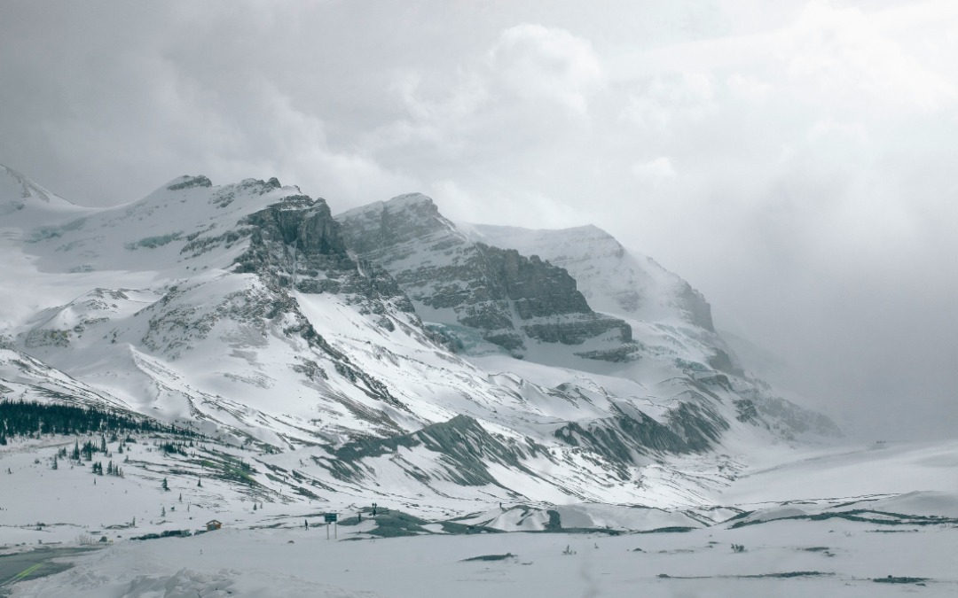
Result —
[{"label": "flat white snowfield in the foreground, before the low dark mounds", "polygon": [[[113,544],[13,596],[890,596],[958,592],[951,525],[786,520],[689,533],[506,533],[327,541],[224,529]],[[731,544],[744,552],[734,552]],[[563,554],[568,546],[569,552]],[[641,548],[641,551],[636,550]],[[468,561],[512,554],[501,561]],[[786,574],[783,576],[783,574]],[[788,576],[792,574],[793,576]],[[874,579],[928,578],[924,587]],[[668,577],[665,577],[668,576]],[[216,593],[219,590],[221,593]]]}]

